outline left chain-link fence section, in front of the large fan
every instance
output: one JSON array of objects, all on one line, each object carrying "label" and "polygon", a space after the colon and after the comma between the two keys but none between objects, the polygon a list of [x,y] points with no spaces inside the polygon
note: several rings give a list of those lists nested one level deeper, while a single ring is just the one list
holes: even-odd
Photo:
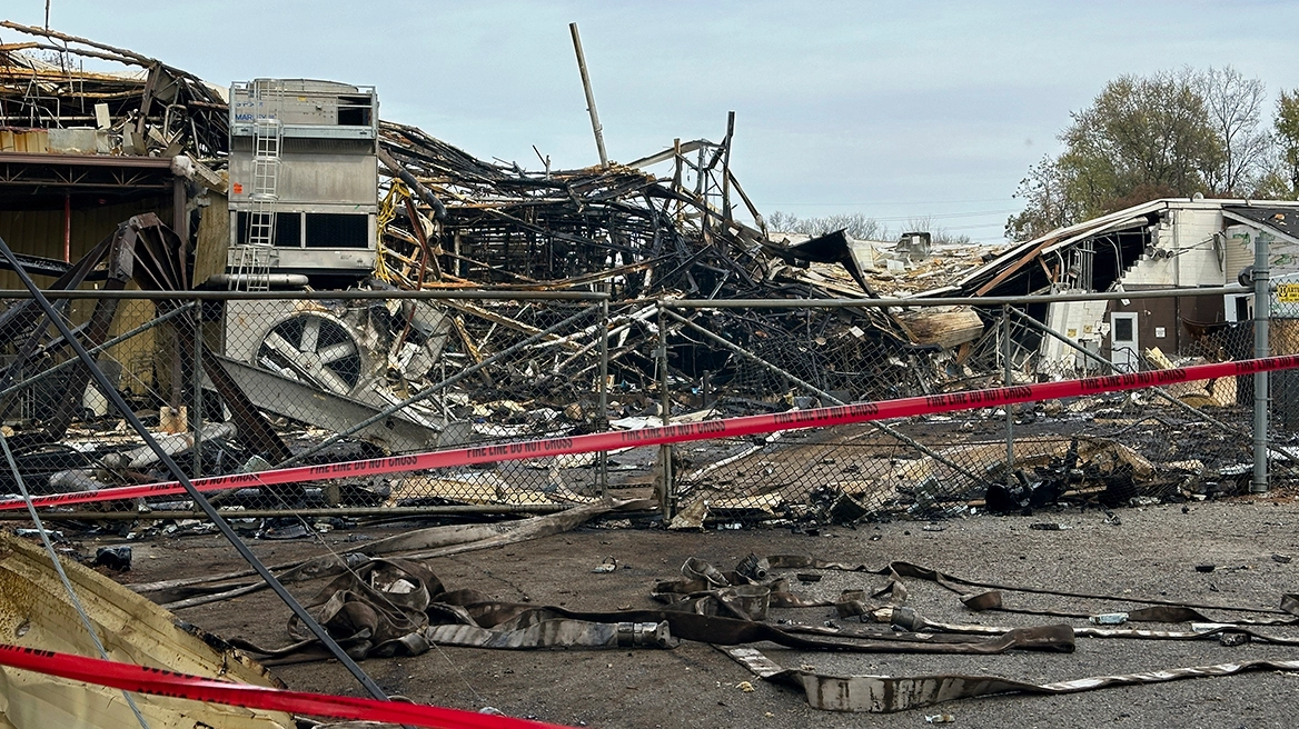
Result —
[{"label": "left chain-link fence section, in front of the large fan", "polygon": [[[284,296],[74,300],[61,310],[83,344],[110,345],[92,349],[99,367],[191,477],[608,428],[601,301]],[[52,328],[19,315],[26,301],[5,304],[0,407],[29,489],[169,480]],[[596,498],[601,466],[599,455],[546,458],[243,488],[213,501],[252,511],[547,511]],[[0,492],[17,493],[12,476],[0,479]]]}]

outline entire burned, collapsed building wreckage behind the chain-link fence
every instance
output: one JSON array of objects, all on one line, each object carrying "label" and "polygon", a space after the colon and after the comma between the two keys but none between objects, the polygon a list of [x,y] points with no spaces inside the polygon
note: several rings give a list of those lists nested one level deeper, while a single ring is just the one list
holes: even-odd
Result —
[{"label": "entire burned, collapsed building wreckage behind the chain-link fence", "polygon": [[[1218,344],[1211,354],[1202,348],[1208,359],[1246,357],[1217,336],[1229,328],[1220,320],[1225,314],[1147,326],[1125,319],[1128,304],[1118,301],[1031,301],[1003,314],[969,300],[1192,285],[1192,259],[1199,271],[1215,256],[1220,275],[1195,274],[1194,285],[1222,284],[1242,258],[1241,235],[1263,228],[1289,235],[1269,218],[1283,218],[1285,205],[1159,201],[1005,252],[935,244],[926,233],[900,241],[853,240],[843,231],[800,236],[769,230],[744,192],[731,156],[734,117],[721,141],[675,140],[627,163],[559,170],[547,162],[530,171],[381,119],[369,87],[257,79],[222,88],[134,52],[3,27],[34,40],[5,45],[0,57],[9,135],[0,163],[27,165],[4,178],[0,233],[26,256],[29,271],[73,275],[75,283],[60,285],[75,288],[117,285],[99,266],[95,245],[122,221],[153,214],[157,226],[149,230],[169,231],[170,248],[152,256],[173,262],[173,276],[140,288],[175,291],[174,300],[123,304],[116,313],[108,304],[74,304],[69,317],[86,322],[91,346],[173,318],[104,345],[104,357],[121,371],[122,389],[158,412],[160,427],[188,435],[174,448],[192,457],[196,473],[1122,370],[1128,364],[1107,349],[1124,348],[1104,339],[1116,327],[1139,335],[1133,350],[1167,341],[1169,357],[1159,367],[1195,355],[1186,346],[1192,340]],[[126,70],[91,71],[82,64]],[[64,132],[94,144],[78,147],[68,141],[77,135]],[[62,165],[87,173],[58,173]],[[39,183],[40,209],[18,210],[19,192],[38,184],[26,175],[38,170],[61,182]],[[1213,224],[1221,230],[1205,233],[1208,243],[1187,243],[1204,227],[1191,217],[1203,214],[1218,215],[1221,224]],[[35,226],[19,224],[29,218]],[[1169,279],[1168,271],[1182,278]],[[205,298],[186,300],[186,291]],[[218,292],[229,296],[221,300]],[[935,296],[968,298],[922,305]],[[1203,297],[1177,300],[1174,309],[1183,313],[1204,305]],[[1224,301],[1224,313],[1239,305]],[[1107,306],[1113,311],[1102,311]],[[22,311],[16,304],[0,320],[10,341],[29,342],[13,348],[14,381],[32,376],[26,357],[42,364],[66,358]],[[123,468],[134,463],[130,457],[101,453],[94,441],[109,440],[103,431],[112,419],[96,424],[107,412],[78,367],[62,374],[42,380],[51,397],[8,393],[10,416],[34,449],[22,455],[40,466],[49,484],[43,488],[160,477],[156,470]],[[1100,397],[1094,410],[1044,403],[1008,415],[773,433],[763,442],[673,454],[631,449],[599,459],[539,459],[508,472],[448,470],[290,496],[320,493],[323,501],[313,503],[335,507],[562,507],[611,485],[651,488],[653,479],[668,479],[670,488],[660,493],[673,492],[665,499],[675,503],[665,511],[707,494],[711,518],[946,514],[978,503],[992,483],[1029,490],[1057,483],[1035,492],[1039,501],[1047,492],[1092,493],[1099,483],[1061,480],[1056,471],[1077,468],[1060,463],[999,464],[991,454],[1000,418],[1025,428],[1020,438],[1057,444],[1094,427],[1098,412],[1113,411],[1102,418],[1112,428],[1087,433],[1100,438],[1125,427],[1190,432],[1199,428],[1199,412],[1212,420],[1215,437],[1231,442],[1239,429],[1203,409],[1234,407],[1231,384],[1224,379],[1203,393],[1170,390],[1152,400]],[[1150,418],[1148,407],[1165,406],[1172,414]],[[75,457],[51,445],[69,428],[87,441]],[[1159,438],[1147,440],[1138,450],[1150,459]],[[64,457],[69,464],[57,467]],[[1200,480],[1217,483],[1216,470],[1230,470],[1239,458],[1224,445]],[[1015,460],[1013,453],[1003,460]],[[1186,459],[1161,453],[1156,460],[1139,480],[1165,493],[1174,479],[1152,473],[1164,460]],[[105,464],[117,466],[108,473]],[[135,468],[142,466],[148,464]],[[1195,490],[1178,489],[1178,498]]]}]

